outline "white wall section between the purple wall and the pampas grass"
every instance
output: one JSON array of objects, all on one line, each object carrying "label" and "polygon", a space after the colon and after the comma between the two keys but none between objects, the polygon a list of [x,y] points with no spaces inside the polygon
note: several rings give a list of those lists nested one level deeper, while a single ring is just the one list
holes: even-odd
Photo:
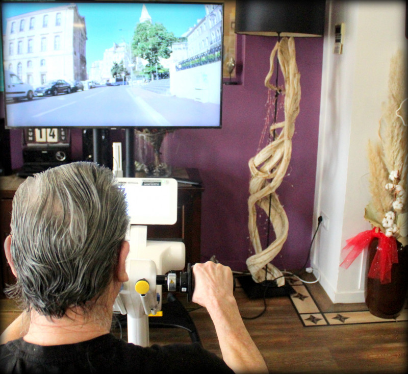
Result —
[{"label": "white wall section between the purple wall and the pampas grass", "polygon": [[[345,23],[343,53],[333,53],[335,24]],[[366,253],[339,268],[346,240],[371,229],[367,143],[376,139],[387,100],[391,57],[406,50],[405,1],[328,1],[314,214],[319,230],[312,266],[334,303],[364,302]]]}]

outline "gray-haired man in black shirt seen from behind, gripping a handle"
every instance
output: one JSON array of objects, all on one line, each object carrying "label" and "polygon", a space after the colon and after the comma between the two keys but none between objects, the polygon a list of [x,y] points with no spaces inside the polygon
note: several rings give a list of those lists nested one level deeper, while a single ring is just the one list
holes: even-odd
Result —
[{"label": "gray-haired man in black shirt seen from behind, gripping a handle", "polygon": [[233,295],[229,267],[195,264],[223,360],[200,344],[141,347],[110,333],[129,242],[123,190],[108,168],[74,162],[28,178],[13,199],[7,289],[23,310],[1,336],[2,372],[267,372]]}]

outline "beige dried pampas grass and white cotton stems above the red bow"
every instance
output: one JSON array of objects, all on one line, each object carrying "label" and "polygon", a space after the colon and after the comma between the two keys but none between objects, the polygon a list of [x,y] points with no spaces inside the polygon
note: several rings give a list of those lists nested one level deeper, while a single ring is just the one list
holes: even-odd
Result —
[{"label": "beige dried pampas grass and white cotton stems above the red bow", "polygon": [[390,63],[388,101],[382,106],[379,139],[368,143],[371,202],[365,213],[374,227],[403,245],[408,244],[406,66],[405,55],[398,51]]}]

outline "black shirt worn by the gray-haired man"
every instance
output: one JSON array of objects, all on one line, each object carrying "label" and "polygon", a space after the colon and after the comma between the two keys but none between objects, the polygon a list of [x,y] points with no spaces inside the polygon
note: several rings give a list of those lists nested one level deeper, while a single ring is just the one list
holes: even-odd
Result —
[{"label": "black shirt worn by the gray-haired man", "polygon": [[75,344],[43,346],[22,338],[0,345],[6,373],[233,373],[200,344],[141,347],[106,334]]}]

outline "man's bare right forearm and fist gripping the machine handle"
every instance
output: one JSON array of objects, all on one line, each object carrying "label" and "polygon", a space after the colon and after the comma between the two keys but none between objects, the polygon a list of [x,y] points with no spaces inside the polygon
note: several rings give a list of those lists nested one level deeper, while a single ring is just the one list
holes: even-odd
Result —
[{"label": "man's bare right forearm and fist gripping the machine handle", "polygon": [[213,320],[222,358],[236,373],[268,372],[250,337],[233,295],[229,267],[211,261],[193,266],[195,289],[192,301],[207,308]]}]

